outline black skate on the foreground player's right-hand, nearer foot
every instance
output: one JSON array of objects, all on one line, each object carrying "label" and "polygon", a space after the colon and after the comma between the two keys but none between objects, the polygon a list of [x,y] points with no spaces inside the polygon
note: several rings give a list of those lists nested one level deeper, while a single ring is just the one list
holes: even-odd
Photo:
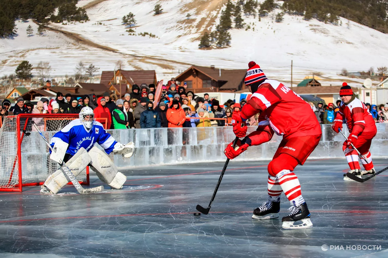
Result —
[{"label": "black skate on the foreground player's right-hand, nearer foot", "polygon": [[[310,220],[310,212],[305,202],[299,206],[291,206],[288,210],[293,208],[294,210],[290,215],[282,218],[282,227],[284,229],[307,229],[313,226]],[[299,220],[301,220],[301,224],[294,225],[294,222]]]}]

